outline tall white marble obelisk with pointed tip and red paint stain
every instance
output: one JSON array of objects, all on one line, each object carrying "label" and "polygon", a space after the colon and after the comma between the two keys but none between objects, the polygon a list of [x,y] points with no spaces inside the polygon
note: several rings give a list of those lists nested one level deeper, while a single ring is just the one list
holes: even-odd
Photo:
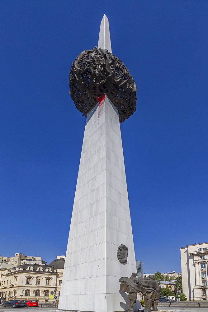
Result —
[{"label": "tall white marble obelisk with pointed tip and red paint stain", "polygon": [[[111,51],[108,19],[98,47]],[[128,247],[121,264],[117,249]],[[128,310],[121,276],[136,272],[118,111],[105,95],[88,114],[69,231],[59,310]],[[138,296],[139,297],[139,296]],[[139,301],[135,310],[139,309]]]}]

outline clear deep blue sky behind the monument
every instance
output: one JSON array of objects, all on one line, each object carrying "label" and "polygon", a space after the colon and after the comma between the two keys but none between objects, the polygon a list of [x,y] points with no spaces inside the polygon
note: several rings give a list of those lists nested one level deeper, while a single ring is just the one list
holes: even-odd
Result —
[{"label": "clear deep blue sky behind the monument", "polygon": [[1,1],[0,255],[65,254],[85,126],[69,70],[104,13],[138,89],[121,124],[136,259],[180,271],[178,248],[208,240],[207,0]]}]

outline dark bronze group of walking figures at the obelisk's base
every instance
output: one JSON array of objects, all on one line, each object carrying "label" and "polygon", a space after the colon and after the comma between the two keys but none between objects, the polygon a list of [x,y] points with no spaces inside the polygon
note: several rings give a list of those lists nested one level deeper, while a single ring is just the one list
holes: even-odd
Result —
[{"label": "dark bronze group of walking figures at the obelisk's base", "polygon": [[158,311],[158,301],[160,298],[160,282],[154,280],[154,275],[148,277],[137,277],[137,273],[132,273],[131,277],[121,277],[119,282],[120,291],[129,294],[128,312],[134,312],[137,293],[144,295],[144,312]]}]

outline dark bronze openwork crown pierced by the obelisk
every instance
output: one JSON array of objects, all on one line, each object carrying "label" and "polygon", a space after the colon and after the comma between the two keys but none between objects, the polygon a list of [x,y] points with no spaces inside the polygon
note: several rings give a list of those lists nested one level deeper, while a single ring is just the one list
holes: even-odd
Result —
[{"label": "dark bronze openwork crown pierced by the obelisk", "polygon": [[128,69],[118,57],[97,46],[84,50],[73,61],[69,87],[72,100],[84,116],[104,94],[116,106],[120,123],[136,110],[136,84]]}]

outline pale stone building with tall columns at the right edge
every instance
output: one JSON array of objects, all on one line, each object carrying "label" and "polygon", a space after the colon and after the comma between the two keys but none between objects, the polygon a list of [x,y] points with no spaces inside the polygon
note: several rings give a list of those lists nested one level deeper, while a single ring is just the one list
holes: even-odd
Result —
[{"label": "pale stone building with tall columns at the right edge", "polygon": [[208,242],[180,249],[183,293],[188,300],[208,300]]}]

